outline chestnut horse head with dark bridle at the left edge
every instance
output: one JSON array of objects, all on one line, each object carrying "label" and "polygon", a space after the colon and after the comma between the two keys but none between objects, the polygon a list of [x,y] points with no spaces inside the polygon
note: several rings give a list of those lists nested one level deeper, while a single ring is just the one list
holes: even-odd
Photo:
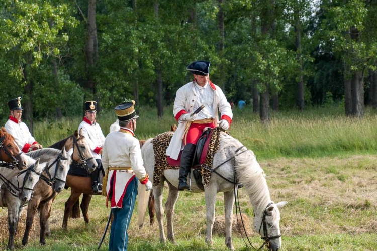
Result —
[{"label": "chestnut horse head with dark bridle at the left edge", "polygon": [[24,170],[28,166],[25,155],[20,151],[13,136],[7,133],[4,127],[0,130],[0,161],[12,163],[20,170]]}]

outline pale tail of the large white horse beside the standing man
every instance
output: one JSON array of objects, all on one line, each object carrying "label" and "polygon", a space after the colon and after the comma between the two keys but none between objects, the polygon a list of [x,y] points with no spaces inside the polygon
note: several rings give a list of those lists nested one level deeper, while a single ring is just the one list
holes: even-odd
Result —
[{"label": "pale tail of the large white horse beside the standing man", "polygon": [[[146,149],[148,149],[148,146],[150,146],[152,139],[148,139],[145,141],[143,146],[141,147],[141,155],[143,159],[145,159]],[[145,163],[144,163],[145,167]],[[148,171],[148,170],[146,170]],[[152,174],[153,175],[153,174]],[[151,175],[149,174],[149,177]],[[152,176],[153,177],[153,176]],[[149,201],[149,195],[150,191],[145,191],[145,186],[138,186],[137,188],[137,211],[138,211],[138,220],[137,225],[142,228],[144,225],[144,218],[148,207],[148,201]]]}]

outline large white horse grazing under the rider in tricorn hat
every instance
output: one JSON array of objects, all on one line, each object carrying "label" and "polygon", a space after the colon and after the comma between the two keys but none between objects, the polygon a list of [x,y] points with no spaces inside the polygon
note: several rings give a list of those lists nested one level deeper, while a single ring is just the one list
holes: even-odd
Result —
[{"label": "large white horse grazing under the rider in tricorn hat", "polygon": [[[153,145],[151,140],[145,142],[142,147],[142,156],[144,160],[144,167],[153,182],[153,171],[155,165],[155,157]],[[228,180],[234,180],[236,174],[237,182],[243,183],[249,195],[251,204],[254,209],[254,230],[264,238],[266,246],[277,251],[281,247],[280,235],[280,207],[287,204],[287,202],[279,202],[275,204],[270,199],[265,174],[262,168],[256,161],[255,155],[251,150],[246,148],[233,137],[221,133],[220,136],[220,149],[214,156],[213,167],[217,167],[226,160],[228,162],[221,165],[216,172]],[[232,159],[234,158],[234,159]],[[166,218],[167,218],[167,237],[173,243],[176,243],[173,231],[173,214],[174,205],[178,199],[179,191],[178,186],[179,169],[168,169],[163,171],[160,183],[158,186],[153,187],[153,195],[155,198],[156,217],[160,230],[160,241],[165,242],[166,237],[163,227],[164,209],[162,207],[162,190],[164,181],[168,181],[169,195],[166,201]],[[191,175],[192,177],[193,174]],[[202,192],[195,181],[191,182],[191,189],[193,192]],[[141,186],[140,186],[141,187]],[[206,201],[206,242],[213,246],[212,240],[212,227],[215,221],[215,200],[216,193],[224,193],[224,207],[225,207],[225,244],[234,250],[232,243],[232,221],[233,221],[233,204],[234,198],[234,184],[226,181],[215,173],[211,173],[211,180],[207,187],[204,187],[205,201]],[[138,215],[139,226],[142,225],[144,220],[146,204],[148,202],[149,192],[139,189],[138,191]]]}]

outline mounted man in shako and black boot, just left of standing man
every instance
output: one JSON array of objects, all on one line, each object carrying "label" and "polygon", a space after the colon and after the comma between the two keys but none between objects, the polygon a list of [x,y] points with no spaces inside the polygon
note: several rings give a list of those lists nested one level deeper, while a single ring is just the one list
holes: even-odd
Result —
[{"label": "mounted man in shako and black boot, just left of standing man", "polygon": [[100,124],[96,122],[97,115],[97,102],[87,101],[85,102],[85,116],[78,126],[78,132],[80,129],[83,131],[86,141],[89,144],[93,157],[96,159],[98,168],[91,173],[91,182],[93,187],[93,194],[102,193],[102,184],[99,180],[100,172],[102,171],[102,146],[105,142],[105,136],[102,133]]}]

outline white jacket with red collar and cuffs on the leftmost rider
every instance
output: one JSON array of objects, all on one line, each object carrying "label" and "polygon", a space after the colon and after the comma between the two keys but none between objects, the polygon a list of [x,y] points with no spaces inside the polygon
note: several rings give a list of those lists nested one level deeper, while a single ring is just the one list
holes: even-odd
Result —
[{"label": "white jacket with red collar and cuffs on the leftmost rider", "polygon": [[31,135],[28,126],[13,116],[9,116],[5,123],[5,130],[15,138],[18,147],[24,153],[29,152],[31,145],[38,143]]}]

